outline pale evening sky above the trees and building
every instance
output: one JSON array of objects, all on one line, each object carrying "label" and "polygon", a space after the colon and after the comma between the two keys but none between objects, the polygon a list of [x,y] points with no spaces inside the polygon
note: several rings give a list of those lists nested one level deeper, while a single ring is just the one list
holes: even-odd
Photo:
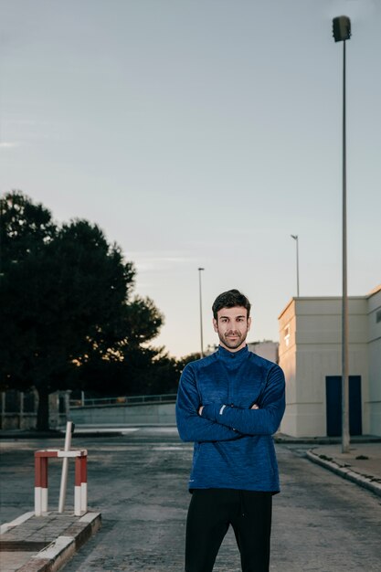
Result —
[{"label": "pale evening sky above the trees and building", "polygon": [[[348,293],[381,282],[381,2],[0,0],[0,191],[86,218],[164,313],[153,345],[217,342],[243,291],[249,341],[301,296],[342,292],[343,43]],[[205,270],[199,271],[198,268]]]}]

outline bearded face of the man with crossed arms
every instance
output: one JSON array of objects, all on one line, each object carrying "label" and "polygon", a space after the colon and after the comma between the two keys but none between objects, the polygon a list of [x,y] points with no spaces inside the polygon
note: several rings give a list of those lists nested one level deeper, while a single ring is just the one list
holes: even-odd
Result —
[{"label": "bearded face of the man with crossed arms", "polygon": [[217,320],[213,318],[213,326],[220,344],[229,352],[238,352],[246,345],[251,318],[242,306],[222,308],[217,312]]}]

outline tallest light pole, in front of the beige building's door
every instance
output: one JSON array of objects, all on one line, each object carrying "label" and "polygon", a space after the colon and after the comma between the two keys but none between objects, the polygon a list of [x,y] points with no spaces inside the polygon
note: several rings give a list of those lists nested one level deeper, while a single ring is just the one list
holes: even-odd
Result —
[{"label": "tallest light pole, in front of the beige building's door", "polygon": [[333,18],[335,42],[343,42],[343,299],[342,299],[342,451],[349,452],[348,292],[346,268],[346,109],[345,41],[351,37],[348,16]]}]

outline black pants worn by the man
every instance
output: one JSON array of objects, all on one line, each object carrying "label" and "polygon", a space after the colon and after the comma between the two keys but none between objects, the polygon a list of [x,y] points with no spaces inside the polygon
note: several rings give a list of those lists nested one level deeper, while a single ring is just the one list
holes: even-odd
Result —
[{"label": "black pants worn by the man", "polygon": [[269,572],[272,493],[196,489],[186,521],[185,572],[211,572],[231,524],[243,572]]}]

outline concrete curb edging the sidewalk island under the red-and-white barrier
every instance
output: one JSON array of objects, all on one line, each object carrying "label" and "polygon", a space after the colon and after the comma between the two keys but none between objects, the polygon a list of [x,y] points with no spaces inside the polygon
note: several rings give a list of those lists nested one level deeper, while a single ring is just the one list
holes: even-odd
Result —
[{"label": "concrete curb edging the sidewalk island under the red-and-white barrier", "polygon": [[[9,524],[5,524],[3,529],[6,532],[18,524],[22,524],[34,513],[26,513]],[[43,518],[43,517],[42,517]],[[101,528],[101,513],[86,513],[78,521],[69,525],[60,535],[48,546],[40,550],[36,555],[31,556],[26,564],[17,568],[17,572],[57,572],[68,560],[76,554],[80,546],[83,546],[90,536]]]}]

